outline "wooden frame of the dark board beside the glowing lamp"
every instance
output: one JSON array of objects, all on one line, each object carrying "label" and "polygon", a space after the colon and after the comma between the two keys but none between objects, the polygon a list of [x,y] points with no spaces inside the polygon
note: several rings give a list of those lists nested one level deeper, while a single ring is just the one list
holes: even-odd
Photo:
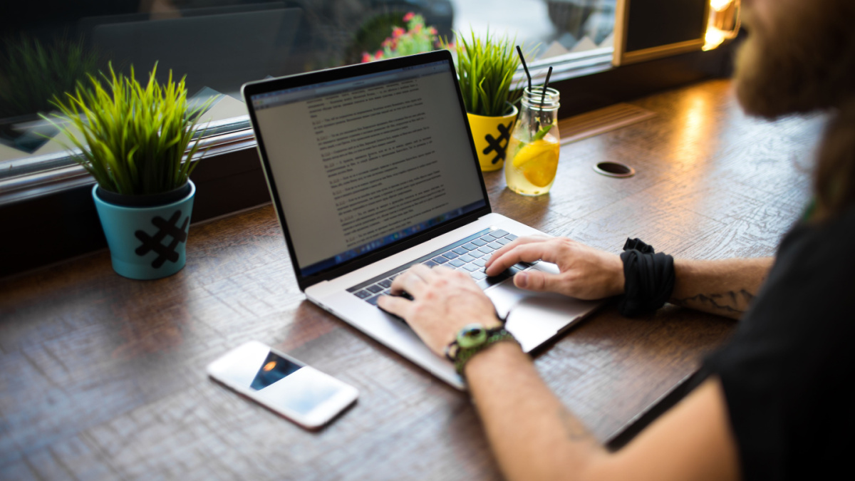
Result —
[{"label": "wooden frame of the dark board beside the glowing lamp", "polygon": [[[646,6],[644,5],[645,3],[657,3],[657,0],[617,0],[615,10],[615,52],[612,57],[612,63],[615,66],[627,65],[629,63],[645,62],[655,58],[662,58],[663,56],[673,56],[690,51],[701,50],[705,44],[706,25],[710,18],[710,3],[709,0],[693,0],[693,2],[699,9],[701,9],[701,4],[703,4],[703,18],[678,19],[678,22],[691,22],[693,20],[703,21],[702,24],[696,25],[696,27],[699,27],[698,35],[692,35],[690,38],[679,39],[678,41],[661,45],[649,45],[644,48],[634,48],[634,42],[628,41],[628,37],[629,35],[639,35],[640,33],[636,31],[630,32],[630,26],[637,23],[631,23],[631,20],[635,21],[639,18],[638,13],[633,15],[634,10],[632,7],[638,8],[640,5]],[[658,6],[661,8],[661,3],[659,3]],[[671,20],[671,24],[674,24],[674,19]],[[637,27],[637,25],[634,25],[634,28]],[[659,26],[651,24],[649,27],[658,28]]]}]

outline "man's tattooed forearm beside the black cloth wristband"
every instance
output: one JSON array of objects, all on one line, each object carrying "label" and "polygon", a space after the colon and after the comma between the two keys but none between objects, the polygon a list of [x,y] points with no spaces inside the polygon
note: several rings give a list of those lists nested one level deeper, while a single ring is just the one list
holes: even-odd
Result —
[{"label": "man's tattooed forearm beside the black cloth wristband", "polygon": [[739,319],[763,285],[774,258],[675,259],[670,303]]}]

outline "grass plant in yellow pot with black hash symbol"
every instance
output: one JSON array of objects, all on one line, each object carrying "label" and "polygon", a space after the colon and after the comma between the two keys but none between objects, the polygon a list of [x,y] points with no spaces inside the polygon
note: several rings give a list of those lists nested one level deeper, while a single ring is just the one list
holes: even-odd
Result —
[{"label": "grass plant in yellow pot with black hash symbol", "polygon": [[446,48],[457,53],[457,76],[463,104],[469,116],[469,128],[481,170],[498,170],[504,165],[510,132],[516,120],[517,89],[511,89],[513,76],[520,66],[514,40],[507,35],[495,38],[466,39],[457,35],[456,45]]}]

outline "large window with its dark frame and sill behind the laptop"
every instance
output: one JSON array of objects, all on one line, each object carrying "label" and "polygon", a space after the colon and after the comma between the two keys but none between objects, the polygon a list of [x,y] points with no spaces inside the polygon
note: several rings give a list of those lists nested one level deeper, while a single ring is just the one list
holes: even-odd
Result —
[{"label": "large window with its dark frame and sill behind the laptop", "polygon": [[198,101],[221,95],[203,117],[212,119],[202,140],[209,150],[193,174],[199,187],[193,221],[199,222],[269,199],[239,86],[361,62],[393,27],[404,27],[409,12],[444,37],[453,30],[468,33],[470,26],[481,36],[489,27],[536,45],[528,67],[540,79],[547,67],[555,68],[550,83],[563,92],[562,116],[728,74],[727,48],[611,68],[614,17],[627,1],[0,2],[0,223],[30,234],[3,237],[3,251],[16,255],[0,263],[0,276],[106,246],[91,202],[91,177],[35,113],[50,111],[48,98],[72,90],[107,62],[126,72],[133,62],[138,74],[147,75],[146,64],[158,61],[159,74],[169,68],[186,74]]}]

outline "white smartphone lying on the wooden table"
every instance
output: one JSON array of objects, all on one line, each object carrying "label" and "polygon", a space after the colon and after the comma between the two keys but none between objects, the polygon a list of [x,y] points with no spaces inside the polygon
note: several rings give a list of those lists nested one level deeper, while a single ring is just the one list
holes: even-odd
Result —
[{"label": "white smartphone lying on the wooden table", "polygon": [[210,363],[208,374],[310,429],[327,424],[359,395],[353,386],[257,341],[236,347]]}]

